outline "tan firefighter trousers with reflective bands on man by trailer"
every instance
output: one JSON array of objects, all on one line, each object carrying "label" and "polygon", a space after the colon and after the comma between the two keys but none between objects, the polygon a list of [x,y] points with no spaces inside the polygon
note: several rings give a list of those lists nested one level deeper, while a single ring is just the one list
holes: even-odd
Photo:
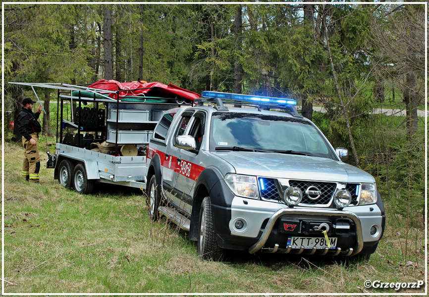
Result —
[{"label": "tan firefighter trousers with reflective bands on man by trailer", "polygon": [[22,145],[24,146],[24,159],[22,162],[22,175],[26,180],[31,182],[39,182],[40,171],[40,155],[37,142],[39,141],[39,133],[30,134],[31,138],[36,141],[36,145],[30,144],[30,141],[22,138]]}]

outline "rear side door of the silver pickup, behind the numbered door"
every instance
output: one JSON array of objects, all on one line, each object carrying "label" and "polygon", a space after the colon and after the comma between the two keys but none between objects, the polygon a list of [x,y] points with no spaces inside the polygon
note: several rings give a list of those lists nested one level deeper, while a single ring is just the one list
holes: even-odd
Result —
[{"label": "rear side door of the silver pickup, behind the numbered door", "polygon": [[189,128],[188,124],[194,111],[195,110],[187,110],[180,116],[176,131],[167,144],[165,159],[162,163],[162,187],[164,190],[164,197],[176,206],[182,206],[183,202],[181,202],[180,192],[177,191],[177,177],[180,170],[177,158],[179,156],[180,149],[174,146],[174,140],[177,136],[185,134],[187,128]]}]

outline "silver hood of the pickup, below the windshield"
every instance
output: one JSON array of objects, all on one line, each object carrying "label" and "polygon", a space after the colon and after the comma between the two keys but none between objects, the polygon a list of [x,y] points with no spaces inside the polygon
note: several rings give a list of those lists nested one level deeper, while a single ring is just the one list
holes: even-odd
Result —
[{"label": "silver hood of the pickup, below the windshield", "polygon": [[343,183],[375,182],[367,172],[328,158],[248,151],[212,153],[231,164],[237,174]]}]

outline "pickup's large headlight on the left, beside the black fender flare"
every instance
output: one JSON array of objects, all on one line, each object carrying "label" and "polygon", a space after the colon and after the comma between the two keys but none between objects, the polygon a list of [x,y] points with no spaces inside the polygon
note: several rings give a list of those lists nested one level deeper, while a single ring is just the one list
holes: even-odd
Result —
[{"label": "pickup's large headlight on the left, beside the black fender flare", "polygon": [[227,174],[225,182],[228,188],[237,196],[259,199],[256,176]]}]

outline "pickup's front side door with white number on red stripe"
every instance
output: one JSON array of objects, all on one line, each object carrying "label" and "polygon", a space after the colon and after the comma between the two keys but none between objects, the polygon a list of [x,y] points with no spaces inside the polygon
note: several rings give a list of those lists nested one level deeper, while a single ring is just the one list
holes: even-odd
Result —
[{"label": "pickup's front side door with white number on red stripe", "polygon": [[204,169],[200,165],[199,151],[201,144],[205,141],[205,125],[206,113],[204,111],[195,112],[189,123],[189,128],[185,131],[185,135],[192,136],[195,139],[197,148],[195,150],[179,149],[178,151],[176,191],[182,198],[182,208],[188,213],[191,213],[192,209],[195,182]]}]

